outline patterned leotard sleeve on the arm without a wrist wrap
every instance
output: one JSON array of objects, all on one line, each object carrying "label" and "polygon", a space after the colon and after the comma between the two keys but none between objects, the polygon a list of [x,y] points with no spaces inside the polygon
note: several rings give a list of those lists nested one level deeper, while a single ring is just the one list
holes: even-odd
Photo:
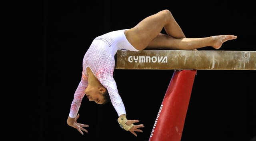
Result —
[{"label": "patterned leotard sleeve on the arm without a wrist wrap", "polygon": [[71,103],[70,113],[69,113],[69,116],[71,118],[75,118],[76,115],[78,114],[78,110],[80,108],[82,99],[85,95],[84,90],[86,89],[87,86],[88,86],[88,78],[84,74],[82,74],[81,81],[78,84],[78,87],[74,93],[74,99]]}]

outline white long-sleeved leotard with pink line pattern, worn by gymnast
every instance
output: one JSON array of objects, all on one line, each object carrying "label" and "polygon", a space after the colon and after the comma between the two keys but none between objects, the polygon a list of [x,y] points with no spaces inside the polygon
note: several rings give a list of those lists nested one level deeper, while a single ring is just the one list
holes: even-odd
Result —
[{"label": "white long-sleeved leotard with pink line pattern, worn by gymnast", "polygon": [[[127,29],[125,29],[127,30]],[[96,37],[84,55],[83,70],[81,81],[74,93],[74,99],[71,104],[69,116],[74,118],[78,114],[82,98],[85,95],[84,90],[88,86],[88,77],[86,68],[90,67],[100,83],[108,89],[110,100],[114,106],[118,117],[126,114],[124,103],[118,93],[116,81],[113,78],[115,66],[115,54],[117,50],[130,50],[138,52],[124,35],[125,30],[108,32],[102,36]]]}]

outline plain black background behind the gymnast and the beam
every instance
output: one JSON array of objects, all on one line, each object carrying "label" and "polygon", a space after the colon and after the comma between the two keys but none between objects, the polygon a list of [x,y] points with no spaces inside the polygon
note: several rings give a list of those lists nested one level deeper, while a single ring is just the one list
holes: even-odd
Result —
[{"label": "plain black background behind the gymnast and the beam", "polygon": [[[168,9],[187,38],[234,34],[219,50],[256,51],[255,7],[246,1],[3,2],[2,114],[9,139],[32,141],[146,141],[173,70],[115,70],[128,119],[145,125],[135,137],[121,129],[109,103],[82,101],[81,135],[66,124],[92,40]],[[210,47],[198,50],[213,50]],[[7,54],[6,54],[7,53]],[[255,71],[198,70],[182,141],[249,141],[256,136]],[[7,96],[7,97],[4,97]]]}]

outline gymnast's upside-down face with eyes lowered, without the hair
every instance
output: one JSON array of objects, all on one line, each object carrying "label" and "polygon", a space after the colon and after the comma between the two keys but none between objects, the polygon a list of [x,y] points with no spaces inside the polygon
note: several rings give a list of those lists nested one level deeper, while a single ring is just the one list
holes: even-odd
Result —
[{"label": "gymnast's upside-down face with eyes lowered, without the hair", "polygon": [[105,102],[104,96],[102,95],[102,91],[100,89],[90,91],[85,90],[85,92],[89,101],[94,101],[97,104],[103,104]]}]

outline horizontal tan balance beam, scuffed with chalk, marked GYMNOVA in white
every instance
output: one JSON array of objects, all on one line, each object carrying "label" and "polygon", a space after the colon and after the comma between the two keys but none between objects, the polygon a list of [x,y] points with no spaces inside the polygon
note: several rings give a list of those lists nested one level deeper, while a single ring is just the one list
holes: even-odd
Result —
[{"label": "horizontal tan balance beam, scuffed with chalk, marked GYMNOVA in white", "polygon": [[115,69],[256,70],[256,51],[118,50]]}]

